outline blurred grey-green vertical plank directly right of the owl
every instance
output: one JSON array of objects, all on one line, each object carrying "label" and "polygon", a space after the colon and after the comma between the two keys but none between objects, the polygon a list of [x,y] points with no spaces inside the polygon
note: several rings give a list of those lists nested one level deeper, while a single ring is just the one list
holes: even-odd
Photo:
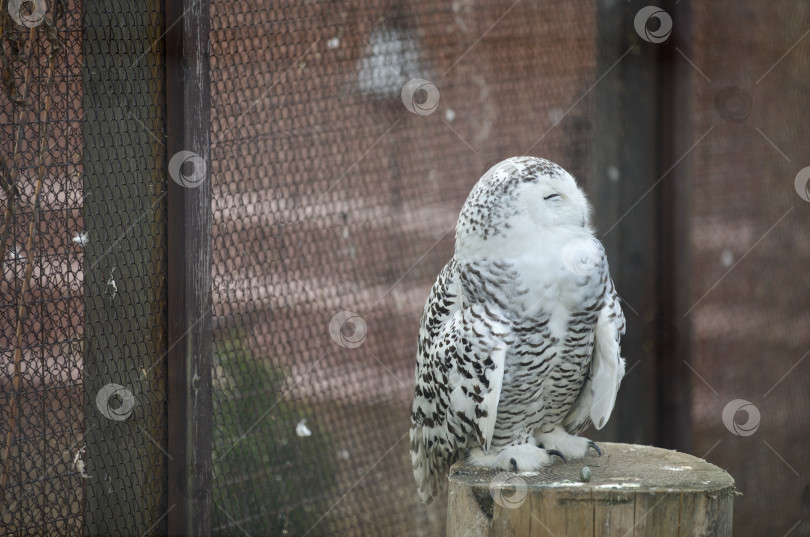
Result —
[{"label": "blurred grey-green vertical plank directly right of the owl", "polygon": [[[588,181],[594,223],[607,250],[627,317],[622,339],[628,374],[610,421],[597,438],[652,443],[656,434],[656,356],[645,336],[654,321],[658,289],[657,55],[633,27],[639,5],[597,3],[593,172]],[[622,58],[627,51],[626,56]],[[621,58],[621,59],[620,59]]]}]

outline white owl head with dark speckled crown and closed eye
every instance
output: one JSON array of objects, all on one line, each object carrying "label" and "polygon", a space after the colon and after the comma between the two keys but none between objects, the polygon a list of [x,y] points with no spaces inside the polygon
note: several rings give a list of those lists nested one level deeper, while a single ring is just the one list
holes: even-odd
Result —
[{"label": "white owl head with dark speckled crown and closed eye", "polygon": [[563,168],[542,158],[512,157],[473,187],[456,226],[456,249],[491,251],[498,241],[520,247],[548,232],[590,234],[590,212],[585,194]]}]

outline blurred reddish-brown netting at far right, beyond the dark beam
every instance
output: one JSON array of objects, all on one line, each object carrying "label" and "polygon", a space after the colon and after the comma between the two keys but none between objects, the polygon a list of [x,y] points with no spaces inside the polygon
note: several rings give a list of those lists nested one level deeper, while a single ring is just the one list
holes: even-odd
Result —
[{"label": "blurred reddish-brown netting at far right, beyond the dark beam", "polygon": [[695,3],[694,449],[736,480],[740,536],[810,535],[808,24],[801,2]]}]

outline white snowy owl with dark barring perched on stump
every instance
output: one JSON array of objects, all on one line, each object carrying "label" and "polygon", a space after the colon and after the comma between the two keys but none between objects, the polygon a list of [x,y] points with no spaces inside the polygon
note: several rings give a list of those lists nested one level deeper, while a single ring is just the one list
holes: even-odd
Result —
[{"label": "white snowy owl with dark barring perched on stump", "polygon": [[624,376],[624,314],[574,178],[507,159],[473,187],[419,328],[410,448],[430,502],[448,467],[532,471],[599,448]]}]

